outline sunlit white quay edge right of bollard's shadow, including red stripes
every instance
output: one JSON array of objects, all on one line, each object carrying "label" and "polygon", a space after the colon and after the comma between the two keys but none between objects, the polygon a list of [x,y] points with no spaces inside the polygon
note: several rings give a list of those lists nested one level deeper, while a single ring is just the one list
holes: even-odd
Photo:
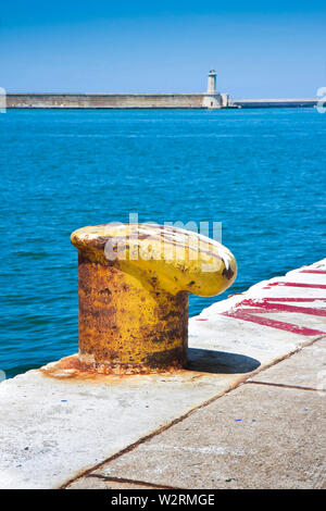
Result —
[{"label": "sunlit white quay edge right of bollard's shadow, including red stripes", "polygon": [[189,323],[189,345],[246,353],[264,363],[326,335],[326,259],[204,309]]}]

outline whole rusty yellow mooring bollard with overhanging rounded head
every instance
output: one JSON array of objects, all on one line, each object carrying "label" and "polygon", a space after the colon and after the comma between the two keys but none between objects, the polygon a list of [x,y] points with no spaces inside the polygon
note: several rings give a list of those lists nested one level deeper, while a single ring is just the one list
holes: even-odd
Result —
[{"label": "whole rusty yellow mooring bollard with overhanging rounded head", "polygon": [[231,252],[152,224],[83,227],[71,240],[78,249],[79,361],[118,374],[185,367],[188,295],[229,287],[237,274]]}]

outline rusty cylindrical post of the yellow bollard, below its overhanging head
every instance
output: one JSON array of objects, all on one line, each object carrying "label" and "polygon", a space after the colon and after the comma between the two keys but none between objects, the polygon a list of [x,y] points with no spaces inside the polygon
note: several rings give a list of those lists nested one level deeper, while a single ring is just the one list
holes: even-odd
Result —
[{"label": "rusty cylindrical post of the yellow bollard, below its overhanging head", "polygon": [[[183,366],[188,295],[147,289],[118,267],[79,254],[79,357],[112,371]],[[168,334],[168,337],[166,337]],[[164,347],[164,349],[162,349]]]}]

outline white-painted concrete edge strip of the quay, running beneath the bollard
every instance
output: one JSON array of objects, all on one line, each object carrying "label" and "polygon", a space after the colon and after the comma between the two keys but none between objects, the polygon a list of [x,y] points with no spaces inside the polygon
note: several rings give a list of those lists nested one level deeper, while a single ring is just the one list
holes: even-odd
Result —
[{"label": "white-painted concrete edge strip of the quay, running beneath the bollard", "polygon": [[231,389],[241,383],[254,378],[248,387],[263,387],[263,381],[255,382],[267,374],[262,370],[284,360],[281,366],[291,353],[325,337],[325,303],[326,259],[259,283],[191,317],[187,371],[87,381],[33,370],[2,382],[0,488],[72,485],[239,394],[242,386]]}]

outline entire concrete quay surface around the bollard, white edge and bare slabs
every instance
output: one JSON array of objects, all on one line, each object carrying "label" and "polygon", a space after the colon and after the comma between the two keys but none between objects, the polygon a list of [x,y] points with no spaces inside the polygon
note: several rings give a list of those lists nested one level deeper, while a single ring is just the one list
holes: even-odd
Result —
[{"label": "entire concrete quay surface around the bollard, white edge and bare slabs", "polygon": [[325,488],[326,259],[189,321],[189,367],[0,385],[0,488]]}]

